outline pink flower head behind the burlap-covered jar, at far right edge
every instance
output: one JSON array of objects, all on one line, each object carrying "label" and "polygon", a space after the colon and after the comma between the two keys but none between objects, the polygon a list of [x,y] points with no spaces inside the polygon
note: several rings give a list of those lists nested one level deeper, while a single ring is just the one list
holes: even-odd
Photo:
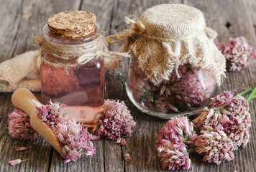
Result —
[{"label": "pink flower head behind the burlap-covered jar, at far right edge", "polygon": [[[218,46],[218,43],[216,42]],[[227,70],[240,71],[251,65],[252,59],[256,58],[256,50],[247,43],[244,37],[229,38],[229,43],[219,44],[219,50],[227,60]]]}]

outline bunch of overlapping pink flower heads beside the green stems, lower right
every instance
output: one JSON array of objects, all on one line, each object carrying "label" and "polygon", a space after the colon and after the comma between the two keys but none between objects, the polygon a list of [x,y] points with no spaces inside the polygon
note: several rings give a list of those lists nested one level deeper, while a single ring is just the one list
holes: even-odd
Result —
[{"label": "bunch of overlapping pink flower heads beside the green stems, lower right", "polygon": [[[245,147],[250,139],[249,103],[240,95],[233,96],[234,90],[217,95],[209,108],[200,110],[198,118],[193,120],[196,128],[201,130],[195,143],[196,151],[204,156],[205,162],[219,164],[232,160],[231,152],[241,145]],[[218,146],[214,147],[213,143]]]}]

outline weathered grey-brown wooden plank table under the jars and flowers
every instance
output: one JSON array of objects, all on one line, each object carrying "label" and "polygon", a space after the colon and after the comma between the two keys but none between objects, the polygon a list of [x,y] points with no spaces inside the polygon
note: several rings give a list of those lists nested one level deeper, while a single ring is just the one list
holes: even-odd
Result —
[{"label": "weathered grey-brown wooden plank table under the jars and flowers", "polygon": [[[124,16],[140,16],[145,9],[156,4],[168,3],[168,0],[0,0],[0,62],[21,54],[33,46],[33,37],[39,36],[49,16],[66,10],[91,11],[106,35],[115,34],[126,26]],[[246,37],[256,47],[256,1],[255,0],[175,0],[195,6],[204,11],[207,24],[219,33],[219,39],[227,42],[229,37]],[[111,45],[116,50],[120,44]],[[154,118],[132,105],[124,89],[126,80],[127,59],[122,68],[112,75],[106,74],[107,97],[124,100],[137,121],[137,130],[127,139],[127,146],[116,145],[110,140],[93,141],[96,154],[83,156],[76,162],[63,163],[63,159],[44,139],[38,142],[19,141],[11,138],[7,130],[7,115],[13,110],[12,93],[0,94],[0,171],[164,171],[160,166],[154,145],[160,128],[167,120]],[[237,89],[256,86],[256,60],[253,65],[241,72],[227,72],[220,90]],[[40,93],[36,93],[40,98]],[[256,101],[250,102],[252,113],[251,139],[247,148],[234,151],[234,161],[222,163],[220,166],[205,164],[201,157],[193,155],[191,171],[256,171]],[[16,146],[37,145],[36,148],[24,152],[15,151]],[[130,149],[132,161],[122,158]],[[29,161],[17,166],[7,163],[14,159]]]}]

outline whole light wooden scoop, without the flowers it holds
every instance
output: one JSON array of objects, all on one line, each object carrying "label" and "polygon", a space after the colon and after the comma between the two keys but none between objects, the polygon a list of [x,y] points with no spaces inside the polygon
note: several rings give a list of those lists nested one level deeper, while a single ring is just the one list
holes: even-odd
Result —
[{"label": "whole light wooden scoop, without the flowers it holds", "polygon": [[[34,102],[32,102],[32,100]],[[55,133],[53,133],[52,129],[37,117],[35,103],[42,105],[32,94],[32,92],[25,88],[19,88],[12,95],[12,104],[19,110],[22,110],[24,113],[29,115],[30,125],[32,128],[34,128],[37,133],[42,135],[42,138],[45,138],[45,140],[47,140],[47,142],[60,153],[58,138],[56,137]]]}]

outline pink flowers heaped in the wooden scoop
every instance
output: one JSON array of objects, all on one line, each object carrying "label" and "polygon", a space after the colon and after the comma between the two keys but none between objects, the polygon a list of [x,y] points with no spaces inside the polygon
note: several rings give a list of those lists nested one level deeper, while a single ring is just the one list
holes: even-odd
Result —
[{"label": "pink flowers heaped in the wooden scoop", "polygon": [[75,120],[68,120],[65,105],[58,102],[49,105],[37,105],[37,116],[52,128],[60,143],[61,157],[65,158],[65,163],[76,161],[82,154],[87,156],[95,153],[92,135],[88,133],[83,125]]}]

